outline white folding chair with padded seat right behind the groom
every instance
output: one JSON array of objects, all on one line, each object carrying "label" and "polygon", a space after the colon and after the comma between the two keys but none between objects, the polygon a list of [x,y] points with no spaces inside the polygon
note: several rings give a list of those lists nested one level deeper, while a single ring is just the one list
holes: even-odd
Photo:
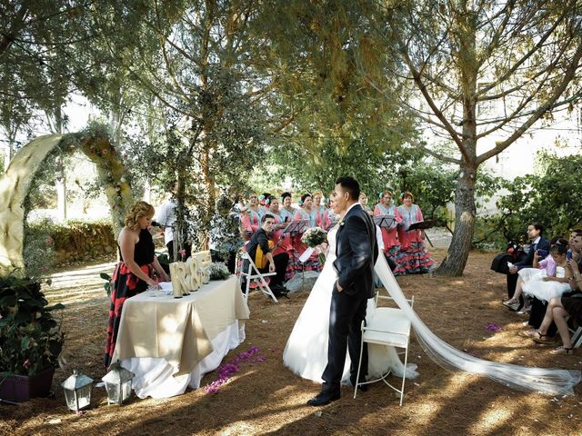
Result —
[{"label": "white folding chair with padded seat right behind the groom", "polygon": [[[408,344],[410,342],[410,327],[411,322],[406,317],[405,313],[394,307],[377,307],[378,299],[392,300],[391,297],[381,296],[376,292],[376,310],[369,322],[362,322],[362,343],[360,348],[360,360],[357,364],[357,378],[360,380],[360,370],[362,366],[362,355],[364,353],[364,343],[376,343],[379,345],[386,345],[391,347],[403,348],[404,349],[404,368],[405,372],[402,375],[402,386],[400,389],[393,386],[388,381],[386,377],[390,374],[388,370],[385,374],[382,374],[375,380],[363,381],[356,383],[354,389],[354,398],[356,398],[357,388],[363,384],[374,383],[376,381],[384,381],[388,387],[394,391],[400,393],[400,405],[402,406],[402,401],[404,399],[404,384],[406,381],[406,363],[408,362]],[[414,306],[415,297],[407,300],[410,302],[410,307]]]}]

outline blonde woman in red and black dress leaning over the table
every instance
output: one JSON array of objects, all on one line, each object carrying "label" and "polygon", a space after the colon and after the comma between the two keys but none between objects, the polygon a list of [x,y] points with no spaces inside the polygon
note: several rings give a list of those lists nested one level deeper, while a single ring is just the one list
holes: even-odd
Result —
[{"label": "blonde woman in red and black dress leaning over the table", "polygon": [[170,281],[160,263],[157,262],[152,234],[147,230],[151,226],[153,216],[154,207],[151,204],[135,203],[125,215],[125,227],[117,238],[121,262],[115,266],[112,279],[113,291],[107,324],[105,367],[111,364],[125,300],[146,291],[148,286],[159,287],[152,278],[154,270],[161,277],[162,282]]}]

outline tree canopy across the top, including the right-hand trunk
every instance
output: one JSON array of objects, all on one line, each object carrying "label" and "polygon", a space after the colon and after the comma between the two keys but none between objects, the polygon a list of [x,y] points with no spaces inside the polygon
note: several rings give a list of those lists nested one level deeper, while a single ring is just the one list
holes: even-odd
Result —
[{"label": "tree canopy across the top, including the right-hand trunk", "polygon": [[439,272],[460,274],[481,165],[581,95],[577,0],[0,1],[7,141],[84,95],[135,175],[178,179],[201,244],[252,173],[306,190],[351,173],[371,198],[454,190]]}]

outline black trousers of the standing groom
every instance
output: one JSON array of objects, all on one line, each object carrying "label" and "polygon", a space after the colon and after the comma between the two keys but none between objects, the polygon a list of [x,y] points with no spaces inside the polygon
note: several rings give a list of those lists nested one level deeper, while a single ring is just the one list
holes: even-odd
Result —
[{"label": "black trousers of the standing groom", "polygon": [[[356,381],[357,363],[360,359],[362,342],[362,321],[366,319],[367,298],[360,292],[348,295],[337,292],[336,284],[331,297],[329,316],[329,340],[327,347],[327,366],[321,378],[326,381],[324,391],[338,391],[339,383],[346,364],[346,349],[352,361],[350,380]],[[360,380],[367,373],[367,347],[364,344]]]}]

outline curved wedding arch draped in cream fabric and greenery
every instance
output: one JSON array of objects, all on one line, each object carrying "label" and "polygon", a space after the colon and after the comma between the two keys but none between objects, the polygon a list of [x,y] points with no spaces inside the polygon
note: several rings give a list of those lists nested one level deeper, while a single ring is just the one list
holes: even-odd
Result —
[{"label": "curved wedding arch draped in cream fabric and greenery", "polygon": [[83,152],[97,167],[105,189],[115,234],[124,225],[133,193],[121,158],[104,128],[90,128],[75,134],[39,136],[22,147],[0,177],[0,276],[25,271],[25,216],[28,192],[35,174],[53,153]]}]

